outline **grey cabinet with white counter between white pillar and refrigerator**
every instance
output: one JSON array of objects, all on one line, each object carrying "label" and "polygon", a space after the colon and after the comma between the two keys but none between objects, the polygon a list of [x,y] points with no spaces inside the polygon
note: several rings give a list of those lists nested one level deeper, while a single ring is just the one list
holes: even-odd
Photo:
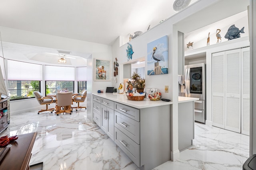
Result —
[{"label": "grey cabinet with white counter between white pillar and refrigerator", "polygon": [[178,140],[179,150],[192,146],[195,137],[194,101],[199,98],[178,97]]}]

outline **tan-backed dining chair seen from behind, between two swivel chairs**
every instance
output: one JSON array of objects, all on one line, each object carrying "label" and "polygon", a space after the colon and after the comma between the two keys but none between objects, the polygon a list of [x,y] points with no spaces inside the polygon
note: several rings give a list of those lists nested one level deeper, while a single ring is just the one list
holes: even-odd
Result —
[{"label": "tan-backed dining chair seen from behind, between two swivel chairs", "polygon": [[[72,102],[72,92],[58,92],[56,94],[56,115],[58,116],[60,113],[70,113],[72,112],[71,105]],[[61,107],[64,109],[62,110]]]}]

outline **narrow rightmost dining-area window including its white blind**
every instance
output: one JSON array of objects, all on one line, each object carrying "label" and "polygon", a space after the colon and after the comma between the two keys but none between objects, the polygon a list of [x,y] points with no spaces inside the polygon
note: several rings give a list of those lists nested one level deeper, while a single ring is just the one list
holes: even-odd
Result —
[{"label": "narrow rightmost dining-area window including its white blind", "polygon": [[82,92],[87,89],[87,67],[76,68],[76,80],[78,93],[82,94]]}]

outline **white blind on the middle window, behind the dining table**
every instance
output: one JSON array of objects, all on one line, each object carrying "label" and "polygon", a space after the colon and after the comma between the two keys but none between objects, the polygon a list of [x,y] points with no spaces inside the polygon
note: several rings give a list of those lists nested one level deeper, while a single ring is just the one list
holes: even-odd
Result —
[{"label": "white blind on the middle window, behind the dining table", "polygon": [[46,81],[74,81],[75,68],[67,66],[45,66]]}]

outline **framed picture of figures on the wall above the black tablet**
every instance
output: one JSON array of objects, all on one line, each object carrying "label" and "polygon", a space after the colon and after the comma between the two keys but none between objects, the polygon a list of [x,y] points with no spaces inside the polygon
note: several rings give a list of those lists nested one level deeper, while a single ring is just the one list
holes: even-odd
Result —
[{"label": "framed picture of figures on the wall above the black tablet", "polygon": [[94,81],[110,81],[110,61],[94,59]]}]

